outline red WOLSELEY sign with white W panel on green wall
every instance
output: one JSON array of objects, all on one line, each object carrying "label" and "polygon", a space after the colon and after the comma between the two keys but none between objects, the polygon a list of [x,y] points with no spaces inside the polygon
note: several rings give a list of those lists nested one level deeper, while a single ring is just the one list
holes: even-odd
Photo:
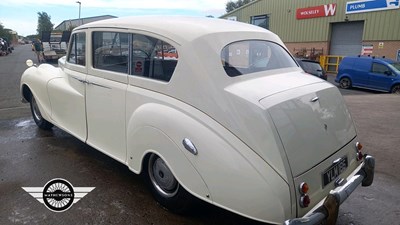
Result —
[{"label": "red WOLSELEY sign with white W panel on green wall", "polygon": [[336,4],[319,5],[296,10],[296,18],[309,19],[316,17],[334,16],[336,14]]}]

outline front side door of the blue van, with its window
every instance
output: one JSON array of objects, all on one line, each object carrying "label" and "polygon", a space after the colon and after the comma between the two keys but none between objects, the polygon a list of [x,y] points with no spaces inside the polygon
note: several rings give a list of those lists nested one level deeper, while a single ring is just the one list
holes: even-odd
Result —
[{"label": "front side door of the blue van, with its window", "polygon": [[370,88],[390,91],[393,80],[393,72],[389,67],[378,62],[372,63],[368,82]]}]

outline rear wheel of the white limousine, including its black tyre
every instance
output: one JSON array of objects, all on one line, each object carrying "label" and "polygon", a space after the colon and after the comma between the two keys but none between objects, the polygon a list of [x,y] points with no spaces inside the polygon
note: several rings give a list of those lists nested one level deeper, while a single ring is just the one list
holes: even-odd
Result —
[{"label": "rear wheel of the white limousine, including its black tyre", "polygon": [[179,184],[163,159],[151,154],[143,168],[146,183],[158,203],[175,213],[191,210],[194,197]]}]

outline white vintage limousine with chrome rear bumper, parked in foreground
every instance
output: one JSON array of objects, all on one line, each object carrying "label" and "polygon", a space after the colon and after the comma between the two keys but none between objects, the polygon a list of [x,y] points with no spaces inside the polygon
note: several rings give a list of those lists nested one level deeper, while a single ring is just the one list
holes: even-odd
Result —
[{"label": "white vintage limousine with chrome rear bumper, parked in foreground", "polygon": [[374,158],[338,89],[305,74],[263,28],[103,20],[75,28],[58,65],[22,75],[36,124],[143,174],[171,211],[197,198],[272,224],[334,224],[339,205],[373,182]]}]

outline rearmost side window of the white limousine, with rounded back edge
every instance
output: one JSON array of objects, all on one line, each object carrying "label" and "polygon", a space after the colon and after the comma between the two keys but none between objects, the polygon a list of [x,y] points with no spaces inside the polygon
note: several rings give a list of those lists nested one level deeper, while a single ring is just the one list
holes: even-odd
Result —
[{"label": "rearmost side window of the white limousine, with rounded back edge", "polygon": [[164,41],[132,34],[131,75],[169,81],[178,63],[178,52]]}]

